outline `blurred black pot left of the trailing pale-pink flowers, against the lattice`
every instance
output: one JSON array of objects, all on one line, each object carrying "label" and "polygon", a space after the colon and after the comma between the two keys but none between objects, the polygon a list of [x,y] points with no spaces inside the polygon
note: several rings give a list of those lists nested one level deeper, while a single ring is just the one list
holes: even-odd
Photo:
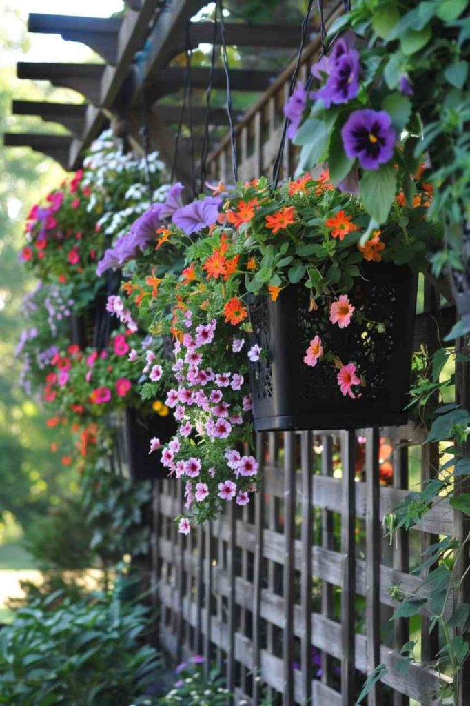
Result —
[{"label": "blurred black pot left of the trailing pale-pink flowers, against the lattice", "polygon": [[159,417],[158,414],[149,414],[140,409],[124,409],[119,418],[117,438],[124,474],[134,481],[167,478],[168,469],[160,462],[162,450],[149,454],[150,439],[156,436],[163,447],[176,430],[177,424],[171,414]]}]

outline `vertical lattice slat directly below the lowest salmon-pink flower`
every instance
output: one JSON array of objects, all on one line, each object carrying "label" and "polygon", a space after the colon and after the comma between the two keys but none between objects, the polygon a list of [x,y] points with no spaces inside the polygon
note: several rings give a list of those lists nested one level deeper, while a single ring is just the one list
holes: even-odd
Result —
[{"label": "vertical lattice slat directly below the lowest salmon-pink flower", "polygon": [[341,689],[342,706],[351,706],[355,695],[356,483],[354,480],[354,462],[356,457],[356,434],[354,431],[342,432],[341,447],[343,487],[341,518],[343,589],[341,594]]}]

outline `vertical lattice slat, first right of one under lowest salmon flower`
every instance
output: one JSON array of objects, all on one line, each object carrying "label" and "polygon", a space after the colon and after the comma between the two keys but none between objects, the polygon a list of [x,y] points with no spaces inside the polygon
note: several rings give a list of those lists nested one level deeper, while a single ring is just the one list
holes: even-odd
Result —
[{"label": "vertical lattice slat, first right of one under lowest salmon flower", "polygon": [[[380,519],[379,519],[379,432],[366,432],[366,634],[367,671],[372,674],[380,664]],[[380,706],[380,682],[368,693],[368,705]]]}]

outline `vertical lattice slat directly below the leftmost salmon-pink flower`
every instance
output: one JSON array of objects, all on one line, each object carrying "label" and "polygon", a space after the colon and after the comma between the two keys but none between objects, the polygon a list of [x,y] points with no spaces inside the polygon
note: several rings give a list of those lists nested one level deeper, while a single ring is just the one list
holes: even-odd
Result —
[{"label": "vertical lattice slat directly below the leftmost salmon-pink flower", "polygon": [[312,545],[313,545],[313,507],[311,505],[313,486],[313,434],[301,433],[301,469],[302,469],[302,561],[301,561],[301,608],[303,632],[301,637],[301,688],[303,703],[310,703],[312,698]]}]

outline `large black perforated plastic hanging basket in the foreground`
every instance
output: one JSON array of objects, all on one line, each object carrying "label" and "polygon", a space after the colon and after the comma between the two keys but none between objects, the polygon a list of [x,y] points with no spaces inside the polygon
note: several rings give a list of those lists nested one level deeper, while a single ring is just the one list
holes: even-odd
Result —
[{"label": "large black perforated plastic hanging basket in the foreground", "polygon": [[[349,299],[368,321],[384,322],[385,333],[360,323],[360,316],[340,329],[327,312],[309,311],[303,285],[289,285],[275,302],[263,296],[248,304],[251,340],[263,349],[250,366],[256,431],[406,424],[417,277],[406,266],[364,263],[361,269],[364,279],[356,280]],[[325,351],[365,375],[356,399],[342,395],[332,364],[303,363],[315,335]]]}]

